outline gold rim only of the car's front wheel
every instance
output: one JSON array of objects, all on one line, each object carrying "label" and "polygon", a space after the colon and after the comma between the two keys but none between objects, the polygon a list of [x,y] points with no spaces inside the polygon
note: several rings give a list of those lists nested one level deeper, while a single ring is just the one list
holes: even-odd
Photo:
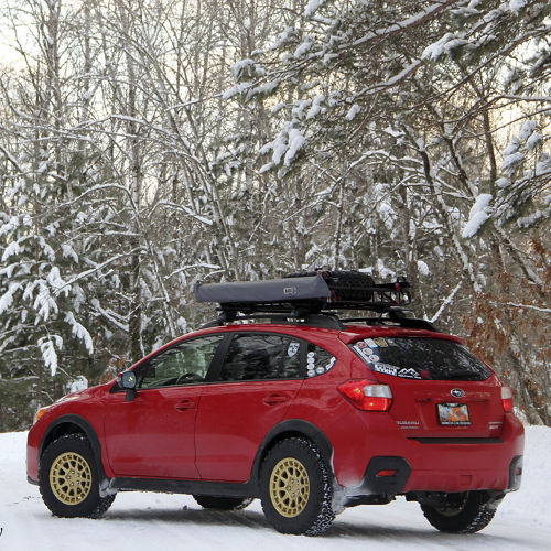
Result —
[{"label": "gold rim only of the car's front wheel", "polygon": [[62,453],[50,468],[50,487],[62,504],[80,504],[91,489],[88,462],[75,452]]}]

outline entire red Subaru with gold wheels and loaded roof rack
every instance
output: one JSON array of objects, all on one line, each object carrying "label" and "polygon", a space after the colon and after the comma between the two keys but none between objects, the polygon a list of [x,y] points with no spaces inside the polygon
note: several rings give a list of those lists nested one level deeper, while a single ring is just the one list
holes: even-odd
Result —
[{"label": "entire red Subaru with gold wheels and loaded roof rack", "polygon": [[260,498],[277,530],[320,534],[344,507],[404,495],[439,530],[480,530],[520,485],[523,429],[460,338],[395,307],[407,288],[357,272],[199,285],[216,322],[39,412],[29,482],[61,517],[170,491]]}]

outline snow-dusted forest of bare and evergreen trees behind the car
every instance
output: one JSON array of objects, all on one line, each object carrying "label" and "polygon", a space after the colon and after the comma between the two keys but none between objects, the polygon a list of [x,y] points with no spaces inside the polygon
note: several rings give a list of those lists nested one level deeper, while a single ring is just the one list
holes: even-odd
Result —
[{"label": "snow-dusted forest of bare and evergreen trees behind the car", "polygon": [[213,317],[406,276],[551,424],[548,0],[3,0],[0,431]]}]

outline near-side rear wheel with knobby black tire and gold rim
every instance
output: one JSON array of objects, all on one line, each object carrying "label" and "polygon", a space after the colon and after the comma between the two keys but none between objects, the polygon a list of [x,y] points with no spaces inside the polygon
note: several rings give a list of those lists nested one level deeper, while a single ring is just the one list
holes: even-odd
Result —
[{"label": "near-side rear wheel with knobby black tire and gold rim", "polygon": [[282,533],[320,536],[332,525],[333,477],[309,440],[278,442],[260,472],[260,497],[268,521]]}]

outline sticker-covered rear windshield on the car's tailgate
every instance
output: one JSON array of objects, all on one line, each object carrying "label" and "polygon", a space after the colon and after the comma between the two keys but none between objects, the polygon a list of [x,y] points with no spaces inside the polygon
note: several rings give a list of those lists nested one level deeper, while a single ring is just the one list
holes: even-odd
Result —
[{"label": "sticker-covered rear windshield on the car's tailgate", "polygon": [[414,380],[484,380],[491,375],[464,346],[440,338],[366,338],[353,350],[377,372]]}]

